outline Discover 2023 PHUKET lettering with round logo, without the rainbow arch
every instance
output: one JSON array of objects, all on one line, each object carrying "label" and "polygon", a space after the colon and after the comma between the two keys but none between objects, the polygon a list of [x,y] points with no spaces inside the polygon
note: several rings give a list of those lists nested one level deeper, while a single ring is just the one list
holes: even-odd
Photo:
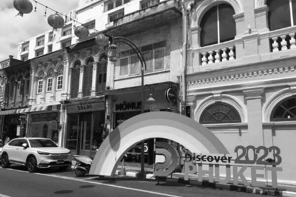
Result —
[{"label": "Discover 2023 PHUKET lettering with round logo, without the rainbow arch", "polygon": [[[172,150],[173,147],[168,144],[162,145],[162,148],[165,149],[156,148],[156,154],[164,155],[166,159],[162,165],[155,164],[154,174],[158,176],[168,176],[169,173],[174,171],[178,166],[177,163],[171,162],[173,158],[176,158],[176,153]],[[250,150],[252,151],[250,152],[251,154],[249,153]],[[233,185],[240,184],[245,186],[252,185],[253,187],[265,187],[265,183],[259,182],[258,178],[264,178],[266,170],[271,172],[272,187],[277,188],[277,172],[282,171],[282,167],[276,167],[276,165],[282,162],[279,155],[280,149],[277,146],[271,146],[269,148],[264,146],[255,148],[251,145],[247,147],[237,146],[234,152],[238,154],[238,157],[235,159],[226,155],[185,154],[185,157],[182,158],[185,164],[184,180],[188,180],[189,174],[197,173],[198,181],[202,181],[203,176],[206,175],[209,177],[209,182],[214,183],[215,174],[215,181],[219,183],[229,183],[232,177]],[[168,155],[168,153],[171,155]],[[273,159],[266,159],[269,154],[272,155]],[[252,157],[252,159],[250,159],[250,157]],[[257,165],[250,166],[244,164]],[[224,178],[220,176],[220,169],[222,167],[226,169],[226,177]],[[248,169],[251,171],[251,183],[247,181],[244,175],[244,172],[248,171]]]}]

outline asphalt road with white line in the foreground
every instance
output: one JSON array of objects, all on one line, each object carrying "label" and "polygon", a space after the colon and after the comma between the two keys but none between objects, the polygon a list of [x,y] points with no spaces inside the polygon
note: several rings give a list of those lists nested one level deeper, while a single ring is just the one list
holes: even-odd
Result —
[{"label": "asphalt road with white line in the foreground", "polygon": [[130,177],[75,177],[74,171],[29,173],[23,167],[0,168],[0,197],[258,197],[243,192],[141,181]]}]

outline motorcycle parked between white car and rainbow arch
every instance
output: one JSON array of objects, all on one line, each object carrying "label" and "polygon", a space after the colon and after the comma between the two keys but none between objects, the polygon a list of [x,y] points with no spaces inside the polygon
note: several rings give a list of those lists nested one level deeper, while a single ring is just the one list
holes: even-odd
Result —
[{"label": "motorcycle parked between white car and rainbow arch", "polygon": [[76,164],[74,166],[76,176],[82,177],[86,173],[89,173],[90,166],[92,164],[92,159],[87,156],[74,155],[74,160]]}]

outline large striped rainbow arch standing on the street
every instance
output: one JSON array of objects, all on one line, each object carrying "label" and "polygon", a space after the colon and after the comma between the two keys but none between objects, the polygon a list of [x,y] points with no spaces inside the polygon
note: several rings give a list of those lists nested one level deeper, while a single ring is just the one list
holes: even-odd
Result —
[{"label": "large striped rainbow arch standing on the street", "polygon": [[194,153],[228,154],[222,142],[193,119],[172,112],[149,112],[134,116],[116,127],[101,144],[90,174],[114,175],[123,155],[149,138],[174,140]]}]

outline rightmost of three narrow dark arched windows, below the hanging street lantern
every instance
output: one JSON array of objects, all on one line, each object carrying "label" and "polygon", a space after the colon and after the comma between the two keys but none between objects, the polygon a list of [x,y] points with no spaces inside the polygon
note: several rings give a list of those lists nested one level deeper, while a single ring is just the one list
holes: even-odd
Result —
[{"label": "rightmost of three narrow dark arched windows, below the hanging street lantern", "polygon": [[101,92],[106,88],[107,63],[108,57],[106,54],[103,54],[99,59],[99,65],[97,67],[97,92]]}]

